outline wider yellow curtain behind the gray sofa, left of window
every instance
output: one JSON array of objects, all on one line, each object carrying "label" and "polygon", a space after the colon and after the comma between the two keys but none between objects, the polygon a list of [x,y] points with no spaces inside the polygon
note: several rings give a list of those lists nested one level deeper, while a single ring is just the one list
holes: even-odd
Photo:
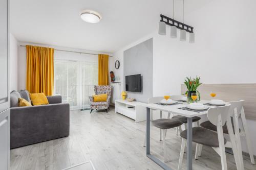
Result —
[{"label": "wider yellow curtain behind the gray sofa, left of window", "polygon": [[53,94],[54,49],[26,45],[27,48],[27,90],[30,93]]}]

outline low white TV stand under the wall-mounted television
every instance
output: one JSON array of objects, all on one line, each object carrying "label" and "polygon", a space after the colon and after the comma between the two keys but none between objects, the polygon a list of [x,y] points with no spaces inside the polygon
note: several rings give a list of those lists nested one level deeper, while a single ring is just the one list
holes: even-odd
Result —
[{"label": "low white TV stand under the wall-mounted television", "polygon": [[123,114],[135,120],[135,123],[146,120],[146,108],[142,102],[128,102],[115,100],[115,112]]}]

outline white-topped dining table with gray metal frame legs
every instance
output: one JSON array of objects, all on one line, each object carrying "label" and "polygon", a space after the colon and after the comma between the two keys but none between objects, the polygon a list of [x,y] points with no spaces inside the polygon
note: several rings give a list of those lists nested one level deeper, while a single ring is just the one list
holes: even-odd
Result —
[{"label": "white-topped dining table with gray metal frame legs", "polygon": [[[179,102],[181,103],[181,102]],[[208,103],[208,101],[200,101],[199,103]],[[187,106],[187,103],[177,104],[177,105],[159,105],[159,104],[145,104],[143,105],[146,107],[146,156],[150,158],[152,161],[157,163],[160,167],[162,167],[165,170],[170,170],[172,168],[168,167],[164,162],[156,158],[154,155],[151,155],[150,153],[150,109],[154,110],[160,110],[176,115],[181,115],[187,117],[187,169],[192,169],[192,117],[194,116],[200,116],[207,114],[207,111],[203,112],[195,112],[195,111],[188,111],[188,110],[182,110],[179,108]],[[209,108],[214,106],[208,106]],[[153,113],[154,114],[154,113]]]}]

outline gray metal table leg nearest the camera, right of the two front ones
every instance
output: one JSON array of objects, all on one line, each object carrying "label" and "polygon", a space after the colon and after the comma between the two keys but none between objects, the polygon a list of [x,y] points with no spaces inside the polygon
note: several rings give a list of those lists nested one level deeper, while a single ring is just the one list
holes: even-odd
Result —
[{"label": "gray metal table leg nearest the camera, right of the two front ones", "polygon": [[187,170],[192,170],[192,117],[187,117]]}]

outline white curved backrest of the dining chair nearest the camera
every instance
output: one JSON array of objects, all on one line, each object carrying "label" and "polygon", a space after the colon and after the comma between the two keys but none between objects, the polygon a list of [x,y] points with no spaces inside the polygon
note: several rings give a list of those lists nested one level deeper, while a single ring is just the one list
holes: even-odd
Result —
[{"label": "white curved backrest of the dining chair nearest the camera", "polygon": [[229,116],[229,109],[230,109],[230,104],[226,104],[226,106],[221,106],[221,107],[209,108],[207,113],[209,121],[212,124],[217,126],[218,116],[221,115],[222,126],[224,126]]}]

